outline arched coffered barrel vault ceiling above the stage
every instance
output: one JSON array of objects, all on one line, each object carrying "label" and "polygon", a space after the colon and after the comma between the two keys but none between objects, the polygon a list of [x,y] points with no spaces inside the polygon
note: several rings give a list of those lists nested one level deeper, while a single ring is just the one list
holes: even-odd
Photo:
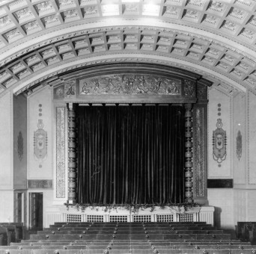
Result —
[{"label": "arched coffered barrel vault ceiling above the stage", "polygon": [[0,0],[0,96],[112,62],[176,66],[226,93],[256,92],[255,10],[254,0]]}]

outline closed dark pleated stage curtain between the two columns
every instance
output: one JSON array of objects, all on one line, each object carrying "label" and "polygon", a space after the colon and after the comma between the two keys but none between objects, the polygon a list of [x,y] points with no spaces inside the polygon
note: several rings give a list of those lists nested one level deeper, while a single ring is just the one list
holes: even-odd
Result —
[{"label": "closed dark pleated stage curtain between the two columns", "polygon": [[184,202],[184,108],[77,108],[78,202]]}]

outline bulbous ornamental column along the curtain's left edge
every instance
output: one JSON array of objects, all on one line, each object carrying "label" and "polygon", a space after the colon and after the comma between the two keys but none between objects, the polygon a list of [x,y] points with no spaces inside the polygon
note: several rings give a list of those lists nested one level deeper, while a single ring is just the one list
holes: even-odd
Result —
[{"label": "bulbous ornamental column along the curtain's left edge", "polygon": [[76,203],[76,111],[73,103],[67,109],[67,147],[68,147],[68,203]]}]

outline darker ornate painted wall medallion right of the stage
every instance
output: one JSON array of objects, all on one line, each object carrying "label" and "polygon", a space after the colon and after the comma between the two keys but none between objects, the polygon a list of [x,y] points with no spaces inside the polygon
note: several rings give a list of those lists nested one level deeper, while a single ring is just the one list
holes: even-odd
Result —
[{"label": "darker ornate painted wall medallion right of the stage", "polygon": [[222,120],[217,119],[216,130],[213,131],[213,159],[219,164],[225,161],[227,156],[226,149],[226,131],[222,129]]}]

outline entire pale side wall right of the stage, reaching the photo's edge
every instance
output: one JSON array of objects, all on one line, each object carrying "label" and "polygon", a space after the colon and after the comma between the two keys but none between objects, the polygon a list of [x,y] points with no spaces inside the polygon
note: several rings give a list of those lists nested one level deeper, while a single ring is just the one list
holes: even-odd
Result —
[{"label": "entire pale side wall right of the stage, reaching the photo's edge", "polygon": [[[234,229],[237,222],[256,218],[255,111],[256,96],[251,91],[233,96],[218,87],[209,91],[208,200],[215,207],[219,228]],[[227,156],[220,163],[213,159],[217,118],[227,134]]]}]

